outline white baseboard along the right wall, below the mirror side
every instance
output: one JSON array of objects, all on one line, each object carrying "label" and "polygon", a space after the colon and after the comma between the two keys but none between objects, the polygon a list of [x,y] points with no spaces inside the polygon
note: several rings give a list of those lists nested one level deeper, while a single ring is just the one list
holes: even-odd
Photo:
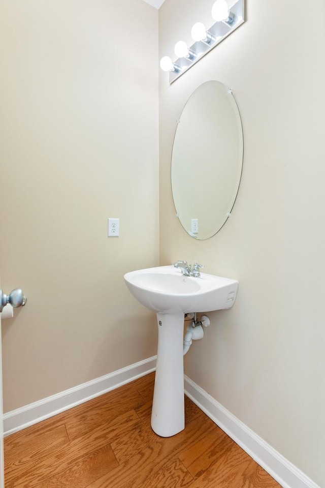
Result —
[{"label": "white baseboard along the right wall, below the mirror side", "polygon": [[320,488],[187,376],[184,386],[186,395],[283,488]]}]

